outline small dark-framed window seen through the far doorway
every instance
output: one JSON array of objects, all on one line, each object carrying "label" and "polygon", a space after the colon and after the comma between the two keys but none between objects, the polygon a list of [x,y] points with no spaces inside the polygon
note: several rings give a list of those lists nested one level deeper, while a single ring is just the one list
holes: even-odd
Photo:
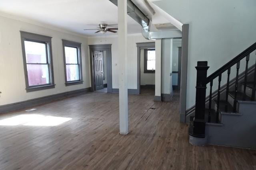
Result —
[{"label": "small dark-framed window seen through the far doorway", "polygon": [[144,50],[144,73],[154,73],[156,70],[156,50]]}]

